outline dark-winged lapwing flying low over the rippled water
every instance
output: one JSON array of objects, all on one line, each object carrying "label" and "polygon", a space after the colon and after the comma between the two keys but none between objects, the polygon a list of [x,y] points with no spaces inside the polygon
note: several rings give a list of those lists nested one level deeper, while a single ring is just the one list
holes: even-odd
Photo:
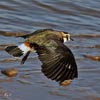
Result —
[{"label": "dark-winged lapwing flying low over the rippled water", "polygon": [[61,84],[65,80],[73,80],[78,77],[74,55],[64,44],[64,42],[72,40],[69,33],[53,29],[40,29],[18,37],[24,38],[25,41],[19,46],[8,46],[5,51],[14,57],[24,55],[22,64],[30,52],[36,52],[42,63],[41,71],[47,78]]}]

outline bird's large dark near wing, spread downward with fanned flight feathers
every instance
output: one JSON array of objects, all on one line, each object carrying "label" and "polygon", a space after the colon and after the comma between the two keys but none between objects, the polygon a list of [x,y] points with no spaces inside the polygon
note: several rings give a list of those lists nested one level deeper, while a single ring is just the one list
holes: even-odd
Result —
[{"label": "bird's large dark near wing, spread downward with fanned flight feathers", "polygon": [[35,45],[42,62],[42,72],[46,77],[59,82],[77,78],[77,65],[71,50],[61,42],[57,44],[52,49]]}]

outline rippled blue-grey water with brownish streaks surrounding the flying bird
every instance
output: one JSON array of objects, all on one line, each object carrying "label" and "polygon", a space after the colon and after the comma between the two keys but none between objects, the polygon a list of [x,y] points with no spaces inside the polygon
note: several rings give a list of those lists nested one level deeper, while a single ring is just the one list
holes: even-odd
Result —
[{"label": "rippled blue-grey water with brownish streaks surrounding the flying bird", "polygon": [[[0,31],[31,33],[41,28],[53,28],[72,36],[100,35],[99,0],[0,0]],[[79,77],[67,87],[47,79],[41,73],[41,63],[31,54],[24,65],[0,50],[0,69],[16,68],[17,77],[8,79],[0,74],[0,100],[100,100],[100,62],[84,58],[83,54],[99,55],[100,37],[73,37],[67,45],[73,51]],[[0,36],[0,48],[19,44],[21,38]]]}]

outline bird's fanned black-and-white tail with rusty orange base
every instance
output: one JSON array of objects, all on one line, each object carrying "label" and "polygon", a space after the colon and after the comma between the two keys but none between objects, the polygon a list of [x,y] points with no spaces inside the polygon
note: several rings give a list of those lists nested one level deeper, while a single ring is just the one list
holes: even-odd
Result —
[{"label": "bird's fanned black-and-white tail with rusty orange base", "polygon": [[25,42],[19,46],[8,46],[5,48],[5,51],[14,57],[20,57],[20,56],[25,55],[21,62],[21,63],[24,63],[28,55],[32,51],[32,47],[33,46],[30,43]]}]

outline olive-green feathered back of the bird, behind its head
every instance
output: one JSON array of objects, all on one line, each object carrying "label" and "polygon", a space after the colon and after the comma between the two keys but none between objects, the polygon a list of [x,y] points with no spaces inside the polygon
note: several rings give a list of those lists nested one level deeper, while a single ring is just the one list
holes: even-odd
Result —
[{"label": "olive-green feathered back of the bird, behind its head", "polygon": [[45,46],[52,46],[54,45],[53,40],[62,41],[62,38],[59,36],[59,34],[50,33],[50,32],[43,32],[41,34],[37,34],[34,36],[29,37],[26,41],[29,43],[37,43],[38,45],[45,45]]}]

